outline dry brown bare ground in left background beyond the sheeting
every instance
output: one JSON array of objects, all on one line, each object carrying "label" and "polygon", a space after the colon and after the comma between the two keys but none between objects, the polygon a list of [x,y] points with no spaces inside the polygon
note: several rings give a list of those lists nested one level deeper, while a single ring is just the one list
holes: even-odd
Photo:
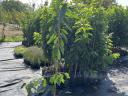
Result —
[{"label": "dry brown bare ground in left background beyond the sheeting", "polygon": [[[3,26],[0,25],[0,36],[2,35],[2,29]],[[7,26],[5,27],[6,37],[21,36],[21,35],[23,35],[23,32],[19,28],[17,28],[16,25],[7,24]]]}]

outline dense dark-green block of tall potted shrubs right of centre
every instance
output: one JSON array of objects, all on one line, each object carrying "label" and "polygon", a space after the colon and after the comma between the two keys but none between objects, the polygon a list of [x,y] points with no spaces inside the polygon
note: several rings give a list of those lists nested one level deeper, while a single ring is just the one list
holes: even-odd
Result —
[{"label": "dense dark-green block of tall potted shrubs right of centre", "polygon": [[[109,60],[111,52],[108,51],[107,43],[109,41],[106,38],[108,35],[105,10],[93,7],[82,9],[81,6],[79,4],[77,7],[76,5],[73,7],[74,10],[78,8],[77,12],[82,14],[78,16],[80,19],[75,19],[71,15],[73,8],[70,14],[67,14],[69,19],[67,25],[70,25],[72,32],[68,32],[65,61],[66,65],[71,67],[72,80],[81,76],[84,81],[84,78],[91,78],[93,75],[98,77],[98,74],[108,65],[107,60]],[[91,30],[88,30],[86,26],[90,26]]]}]

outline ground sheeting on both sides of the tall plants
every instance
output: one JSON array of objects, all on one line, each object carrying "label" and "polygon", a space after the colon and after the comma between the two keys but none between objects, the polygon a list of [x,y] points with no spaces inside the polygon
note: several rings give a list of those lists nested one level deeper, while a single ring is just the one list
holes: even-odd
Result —
[{"label": "ground sheeting on both sides of the tall plants", "polygon": [[[40,71],[27,68],[22,59],[14,58],[13,50],[18,45],[21,43],[0,44],[0,96],[26,96],[21,89],[23,83],[41,75]],[[66,96],[128,96],[128,68],[110,69],[98,89],[86,93],[83,90]]]}]

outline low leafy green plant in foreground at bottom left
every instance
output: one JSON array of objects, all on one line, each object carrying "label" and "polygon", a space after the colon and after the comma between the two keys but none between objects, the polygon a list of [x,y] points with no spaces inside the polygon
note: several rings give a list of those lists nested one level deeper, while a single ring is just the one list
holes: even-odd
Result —
[{"label": "low leafy green plant in foreground at bottom left", "polygon": [[25,83],[24,86],[27,90],[28,96],[47,96],[48,94],[52,94],[50,96],[56,96],[56,86],[64,84],[65,80],[69,79],[70,76],[68,73],[56,73],[48,78],[46,79],[45,77],[41,77],[29,82],[28,84]]}]

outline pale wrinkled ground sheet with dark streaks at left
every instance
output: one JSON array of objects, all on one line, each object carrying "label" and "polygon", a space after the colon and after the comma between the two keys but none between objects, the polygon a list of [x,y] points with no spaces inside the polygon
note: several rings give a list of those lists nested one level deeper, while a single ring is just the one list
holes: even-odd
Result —
[{"label": "pale wrinkled ground sheet with dark streaks at left", "polygon": [[0,96],[26,96],[21,86],[41,73],[32,71],[23,64],[22,59],[13,57],[17,45],[21,43],[0,44]]}]

